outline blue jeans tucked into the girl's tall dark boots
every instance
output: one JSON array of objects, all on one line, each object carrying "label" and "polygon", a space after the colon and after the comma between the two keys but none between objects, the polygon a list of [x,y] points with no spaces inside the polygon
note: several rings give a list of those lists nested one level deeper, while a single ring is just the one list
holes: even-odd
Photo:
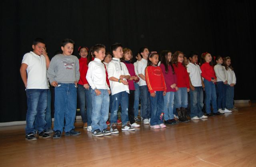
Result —
[{"label": "blue jeans tucked into the girl's tall dark boots", "polygon": [[175,92],[175,100],[176,100],[176,108],[187,108],[188,107],[188,92],[187,88],[179,88],[177,92]]}]

